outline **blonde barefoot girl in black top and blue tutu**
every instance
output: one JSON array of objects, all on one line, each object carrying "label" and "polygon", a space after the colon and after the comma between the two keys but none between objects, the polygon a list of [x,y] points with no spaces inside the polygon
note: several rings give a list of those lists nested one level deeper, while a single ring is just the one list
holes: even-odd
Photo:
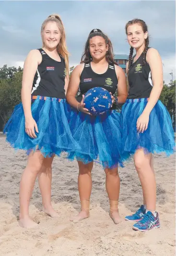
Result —
[{"label": "blonde barefoot girl in black top and blue tutu", "polygon": [[25,228],[37,225],[29,217],[35,179],[42,194],[43,211],[56,217],[51,205],[51,165],[55,154],[75,148],[68,121],[65,93],[69,82],[69,53],[59,15],[49,15],[41,27],[43,47],[32,50],[24,62],[22,103],[14,108],[4,132],[15,149],[28,153],[20,182],[20,220]]}]

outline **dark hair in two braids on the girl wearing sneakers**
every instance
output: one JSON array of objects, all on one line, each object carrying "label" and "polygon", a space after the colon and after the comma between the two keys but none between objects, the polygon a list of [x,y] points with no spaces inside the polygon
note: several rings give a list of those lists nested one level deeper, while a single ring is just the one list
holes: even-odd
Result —
[{"label": "dark hair in two braids on the girl wearing sneakers", "polygon": [[[148,27],[146,25],[146,23],[143,21],[143,20],[140,20],[140,19],[133,19],[133,20],[130,20],[129,22],[127,22],[126,26],[125,26],[125,30],[126,30],[126,34],[127,34],[127,28],[130,26],[130,25],[133,25],[133,24],[139,24],[141,25],[142,27],[142,30],[143,32],[148,32]],[[149,36],[147,37],[147,39],[145,39],[145,48],[143,50],[143,61],[142,61],[142,66],[145,65],[146,63],[146,53],[147,53],[147,48],[149,46]],[[129,67],[128,67],[128,71],[132,65],[132,56],[133,56],[133,50],[134,48],[133,47],[130,47],[130,52],[129,52]]]}]

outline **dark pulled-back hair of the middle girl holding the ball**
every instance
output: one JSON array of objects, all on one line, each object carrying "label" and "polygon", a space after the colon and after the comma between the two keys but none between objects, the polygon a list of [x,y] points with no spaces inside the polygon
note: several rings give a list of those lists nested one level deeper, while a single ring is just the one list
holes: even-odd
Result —
[{"label": "dark pulled-back hair of the middle girl holding the ball", "polygon": [[103,37],[105,39],[106,45],[108,44],[108,46],[109,46],[108,50],[106,52],[106,61],[108,63],[113,63],[113,64],[118,65],[117,62],[114,61],[114,53],[113,53],[113,47],[112,47],[111,40],[106,36],[106,34],[104,34],[98,28],[93,29],[88,36],[88,39],[85,43],[84,53],[82,54],[81,63],[89,63],[92,61],[92,56],[91,56],[90,50],[89,50],[89,41],[91,38],[96,37],[96,36]]}]

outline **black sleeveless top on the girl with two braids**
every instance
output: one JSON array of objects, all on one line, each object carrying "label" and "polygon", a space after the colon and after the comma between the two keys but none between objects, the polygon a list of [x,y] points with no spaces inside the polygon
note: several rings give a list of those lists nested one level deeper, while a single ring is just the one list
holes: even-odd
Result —
[{"label": "black sleeveless top on the girl with two braids", "polygon": [[128,99],[150,97],[150,94],[153,88],[152,75],[151,75],[150,66],[147,63],[146,59],[145,59],[145,65],[143,65],[143,53],[135,62],[132,63],[129,69],[128,81],[129,81]]}]

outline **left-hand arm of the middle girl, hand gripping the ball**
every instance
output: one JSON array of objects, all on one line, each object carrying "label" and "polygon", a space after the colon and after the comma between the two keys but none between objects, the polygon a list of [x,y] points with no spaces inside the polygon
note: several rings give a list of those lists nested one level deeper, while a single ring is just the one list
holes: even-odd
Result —
[{"label": "left-hand arm of the middle girl, hand gripping the ball", "polygon": [[75,98],[78,92],[78,88],[80,84],[80,76],[81,76],[83,67],[84,67],[84,64],[80,64],[73,69],[70,76],[66,99],[73,108],[77,108],[79,111],[90,114],[88,113],[88,109],[84,108],[85,106],[85,104],[83,103],[84,95],[82,95],[81,103],[79,103]]}]

